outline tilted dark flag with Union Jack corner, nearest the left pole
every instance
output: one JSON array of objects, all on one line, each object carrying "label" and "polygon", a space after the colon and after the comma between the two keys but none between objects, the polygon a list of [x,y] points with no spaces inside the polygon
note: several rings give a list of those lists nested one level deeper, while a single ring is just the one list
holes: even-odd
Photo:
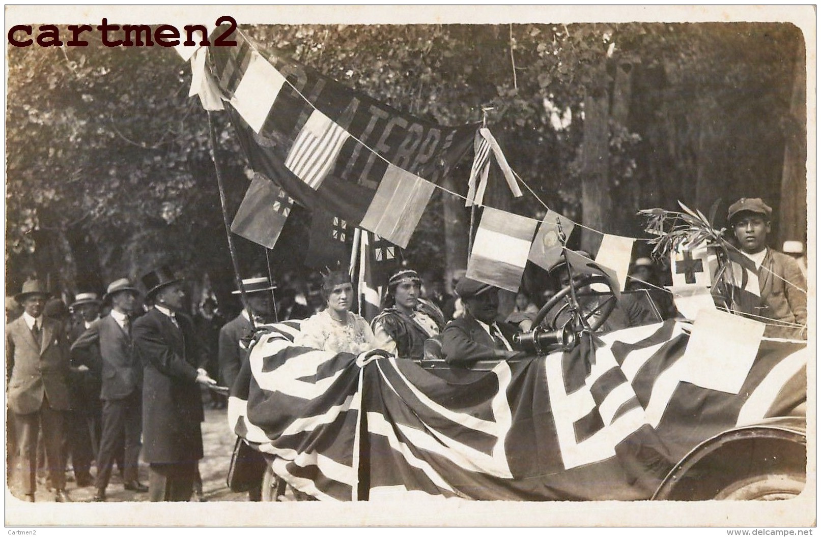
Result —
[{"label": "tilted dark flag with Union Jack corner, nearest the left pole", "polygon": [[263,175],[256,174],[231,224],[233,233],[265,248],[273,248],[294,200]]}]

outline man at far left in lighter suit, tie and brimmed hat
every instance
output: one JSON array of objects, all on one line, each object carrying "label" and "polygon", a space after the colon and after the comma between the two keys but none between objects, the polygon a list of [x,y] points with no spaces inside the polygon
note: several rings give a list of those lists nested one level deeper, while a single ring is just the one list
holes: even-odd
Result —
[{"label": "man at far left in lighter suit, tie and brimmed hat", "polygon": [[28,502],[34,502],[40,431],[54,500],[71,501],[62,461],[62,415],[70,407],[69,354],[62,324],[43,315],[48,296],[38,280],[26,281],[15,296],[23,315],[6,326],[7,403],[16,435],[19,493]]}]

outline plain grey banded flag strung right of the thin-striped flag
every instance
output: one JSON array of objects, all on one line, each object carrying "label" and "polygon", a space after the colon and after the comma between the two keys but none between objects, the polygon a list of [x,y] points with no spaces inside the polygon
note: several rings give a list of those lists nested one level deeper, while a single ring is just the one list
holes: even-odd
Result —
[{"label": "plain grey banded flag strung right of the thin-striped flag", "polygon": [[388,165],[360,227],[407,248],[434,188],[430,181]]}]

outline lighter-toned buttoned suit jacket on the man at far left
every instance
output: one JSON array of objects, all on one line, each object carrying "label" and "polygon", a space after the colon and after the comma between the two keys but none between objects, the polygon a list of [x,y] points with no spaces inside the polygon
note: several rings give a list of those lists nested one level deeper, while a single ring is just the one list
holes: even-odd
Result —
[{"label": "lighter-toned buttoned suit jacket on the man at far left", "polygon": [[30,414],[39,411],[43,397],[55,410],[68,410],[68,340],[62,324],[41,316],[43,328],[40,348],[25,324],[24,317],[6,325],[7,402],[11,412]]}]

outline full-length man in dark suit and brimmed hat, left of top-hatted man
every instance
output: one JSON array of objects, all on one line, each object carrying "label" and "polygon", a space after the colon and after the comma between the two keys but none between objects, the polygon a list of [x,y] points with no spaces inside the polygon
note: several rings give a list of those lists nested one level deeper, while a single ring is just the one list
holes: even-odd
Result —
[{"label": "full-length man in dark suit and brimmed hat, left of top-hatted man", "polygon": [[103,297],[111,301],[111,313],[92,323],[71,345],[72,360],[82,362],[89,355],[101,357],[103,384],[103,432],[97,457],[95,502],[104,502],[111,471],[121,446],[123,488],[146,492],[137,479],[142,434],[143,366],[131,342],[131,316],[137,307],[139,291],[126,278],[108,285]]}]

